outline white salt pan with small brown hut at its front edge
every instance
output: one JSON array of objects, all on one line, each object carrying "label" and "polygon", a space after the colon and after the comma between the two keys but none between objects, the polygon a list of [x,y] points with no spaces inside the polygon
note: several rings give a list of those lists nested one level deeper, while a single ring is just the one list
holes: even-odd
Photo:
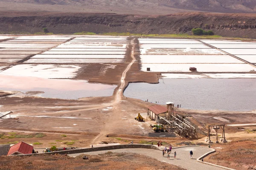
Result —
[{"label": "white salt pan with small brown hut at its front edge", "polygon": [[150,68],[154,72],[190,72],[189,67],[199,72],[250,72],[255,67],[248,64],[141,64],[141,71]]}]

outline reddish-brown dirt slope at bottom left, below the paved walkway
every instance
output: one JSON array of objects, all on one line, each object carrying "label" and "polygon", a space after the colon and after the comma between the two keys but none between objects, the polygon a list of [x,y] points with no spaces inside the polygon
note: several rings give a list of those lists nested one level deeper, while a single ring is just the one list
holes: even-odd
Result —
[{"label": "reddish-brown dirt slope at bottom left, below the paved walkway", "polygon": [[135,153],[111,153],[76,158],[64,155],[1,156],[0,170],[185,170]]}]

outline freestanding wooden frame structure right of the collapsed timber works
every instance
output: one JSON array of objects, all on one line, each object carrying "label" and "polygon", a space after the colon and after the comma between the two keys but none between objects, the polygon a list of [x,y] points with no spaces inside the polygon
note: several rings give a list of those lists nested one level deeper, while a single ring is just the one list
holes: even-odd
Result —
[{"label": "freestanding wooden frame structure right of the collapsed timber works", "polygon": [[[216,137],[211,136],[211,130],[214,129],[216,132]],[[222,135],[221,137],[218,137],[218,130],[221,129],[222,130]],[[216,138],[216,143],[218,143],[218,138],[221,139],[221,142],[227,142],[226,138],[225,138],[225,125],[209,125],[208,126],[208,134],[207,134],[207,139],[206,142],[208,143],[213,143],[211,141],[211,139],[215,139]]]}]

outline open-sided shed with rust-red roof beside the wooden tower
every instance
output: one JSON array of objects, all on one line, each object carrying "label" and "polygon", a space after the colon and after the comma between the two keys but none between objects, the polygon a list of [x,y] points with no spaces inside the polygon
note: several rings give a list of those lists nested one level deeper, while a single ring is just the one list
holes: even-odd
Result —
[{"label": "open-sided shed with rust-red roof beside the wooden tower", "polygon": [[158,116],[166,117],[167,108],[160,105],[154,105],[148,108],[148,116],[159,122]]}]

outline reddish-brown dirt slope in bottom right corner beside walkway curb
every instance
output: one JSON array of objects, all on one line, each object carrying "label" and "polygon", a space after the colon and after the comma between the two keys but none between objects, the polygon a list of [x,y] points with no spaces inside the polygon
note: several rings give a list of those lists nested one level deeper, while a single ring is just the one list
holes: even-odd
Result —
[{"label": "reddish-brown dirt slope in bottom right corner beside walkway curb", "polygon": [[256,138],[216,144],[216,153],[204,161],[236,170],[256,169]]}]

